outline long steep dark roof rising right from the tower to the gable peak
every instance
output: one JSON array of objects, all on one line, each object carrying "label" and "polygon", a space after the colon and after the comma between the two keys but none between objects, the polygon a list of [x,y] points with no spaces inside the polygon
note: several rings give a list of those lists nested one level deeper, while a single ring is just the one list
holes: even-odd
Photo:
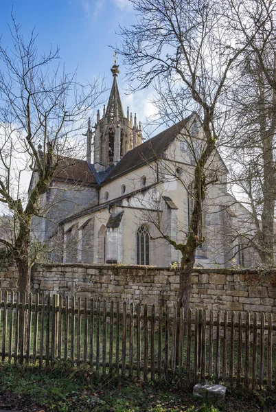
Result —
[{"label": "long steep dark roof rising right from the tower to the gable peak", "polygon": [[181,120],[181,122],[174,124],[174,126],[163,130],[159,135],[152,137],[152,139],[145,141],[143,144],[140,144],[133,150],[127,152],[119,163],[117,163],[111,170],[102,184],[104,185],[104,183],[117,179],[117,177],[122,176],[122,174],[125,174],[130,170],[139,168],[141,165],[162,157],[165,149],[168,148],[193,115],[194,113],[186,117],[186,119]]}]

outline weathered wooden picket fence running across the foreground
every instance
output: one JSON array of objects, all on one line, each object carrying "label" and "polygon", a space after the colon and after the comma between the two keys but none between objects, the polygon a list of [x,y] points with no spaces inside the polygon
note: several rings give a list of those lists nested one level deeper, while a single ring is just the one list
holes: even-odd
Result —
[{"label": "weathered wooden picket fence running across the foreground", "polygon": [[60,295],[0,293],[1,361],[58,359],[102,374],[275,387],[272,314],[133,305]]}]

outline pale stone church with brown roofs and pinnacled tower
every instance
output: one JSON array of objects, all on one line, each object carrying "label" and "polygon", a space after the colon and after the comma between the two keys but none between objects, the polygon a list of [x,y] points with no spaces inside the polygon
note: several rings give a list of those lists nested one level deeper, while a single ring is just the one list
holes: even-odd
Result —
[{"label": "pale stone church with brown roofs and pinnacled tower", "polygon": [[[196,159],[205,139],[195,113],[145,140],[141,123],[122,106],[113,85],[95,131],[87,129],[87,159],[65,158],[41,198],[45,218],[33,236],[57,262],[170,266],[181,256],[165,239],[185,242],[193,209]],[[34,179],[34,176],[32,177]],[[247,239],[251,214],[227,192],[227,168],[218,152],[207,165],[210,183],[201,211],[203,244],[196,266],[253,266]],[[32,182],[31,182],[32,185]]]}]

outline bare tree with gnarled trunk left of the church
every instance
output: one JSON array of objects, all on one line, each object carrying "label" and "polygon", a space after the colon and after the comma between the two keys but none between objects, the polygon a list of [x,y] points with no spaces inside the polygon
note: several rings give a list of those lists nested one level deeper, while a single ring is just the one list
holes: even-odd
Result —
[{"label": "bare tree with gnarled trunk left of the church", "polygon": [[[0,45],[0,202],[14,216],[14,242],[0,239],[19,270],[19,290],[30,293],[31,220],[39,215],[60,161],[78,147],[82,120],[97,102],[96,81],[82,87],[58,64],[59,50],[40,54],[36,35],[25,42],[12,17],[12,49]],[[76,155],[76,152],[75,152]],[[23,175],[35,171],[31,190]]]}]

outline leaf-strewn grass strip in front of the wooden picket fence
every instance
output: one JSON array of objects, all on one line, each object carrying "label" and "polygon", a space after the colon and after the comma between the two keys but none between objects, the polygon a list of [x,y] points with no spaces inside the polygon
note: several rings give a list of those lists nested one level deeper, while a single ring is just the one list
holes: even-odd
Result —
[{"label": "leaf-strewn grass strip in front of the wooden picket fence", "polygon": [[273,412],[276,404],[275,393],[266,390],[228,389],[225,402],[208,402],[194,398],[185,380],[146,384],[104,378],[89,367],[76,368],[62,361],[44,369],[2,363],[0,385],[2,391],[21,396],[41,412]]}]

